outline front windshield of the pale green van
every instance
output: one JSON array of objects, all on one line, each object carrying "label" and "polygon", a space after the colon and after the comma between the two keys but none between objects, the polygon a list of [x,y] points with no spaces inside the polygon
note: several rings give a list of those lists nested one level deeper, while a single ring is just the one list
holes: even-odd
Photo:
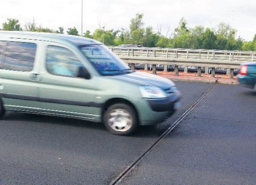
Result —
[{"label": "front windshield of the pale green van", "polygon": [[134,72],[104,45],[84,45],[80,46],[80,50],[87,60],[91,62],[103,76]]}]

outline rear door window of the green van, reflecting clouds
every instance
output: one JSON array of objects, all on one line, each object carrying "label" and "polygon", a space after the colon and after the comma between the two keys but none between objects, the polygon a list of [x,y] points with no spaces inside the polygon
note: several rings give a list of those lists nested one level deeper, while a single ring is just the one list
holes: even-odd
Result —
[{"label": "rear door window of the green van, reflecting clouds", "polygon": [[7,42],[2,52],[3,69],[29,72],[33,70],[36,44],[28,42]]}]

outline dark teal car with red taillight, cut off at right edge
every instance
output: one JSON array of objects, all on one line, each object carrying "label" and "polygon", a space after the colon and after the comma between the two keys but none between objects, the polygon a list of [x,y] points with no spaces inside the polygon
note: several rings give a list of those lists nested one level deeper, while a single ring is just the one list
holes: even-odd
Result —
[{"label": "dark teal car with red taillight, cut off at right edge", "polygon": [[256,62],[241,64],[238,82],[240,86],[256,90]]}]

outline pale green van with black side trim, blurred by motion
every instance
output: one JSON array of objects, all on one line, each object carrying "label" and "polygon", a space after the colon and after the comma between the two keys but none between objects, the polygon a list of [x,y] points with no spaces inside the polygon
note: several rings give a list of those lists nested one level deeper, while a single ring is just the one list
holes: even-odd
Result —
[{"label": "pale green van with black side trim, blurred by motion", "polygon": [[103,122],[114,134],[170,117],[175,84],[136,72],[102,43],[64,34],[0,31],[0,116],[24,111]]}]

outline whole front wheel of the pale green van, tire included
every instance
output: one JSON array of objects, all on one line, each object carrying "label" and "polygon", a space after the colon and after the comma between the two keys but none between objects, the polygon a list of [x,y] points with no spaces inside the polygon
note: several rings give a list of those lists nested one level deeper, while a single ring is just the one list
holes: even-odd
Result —
[{"label": "whole front wheel of the pale green van, tire included", "polygon": [[136,111],[124,103],[110,105],[104,113],[103,122],[110,132],[117,135],[130,135],[138,127]]}]

